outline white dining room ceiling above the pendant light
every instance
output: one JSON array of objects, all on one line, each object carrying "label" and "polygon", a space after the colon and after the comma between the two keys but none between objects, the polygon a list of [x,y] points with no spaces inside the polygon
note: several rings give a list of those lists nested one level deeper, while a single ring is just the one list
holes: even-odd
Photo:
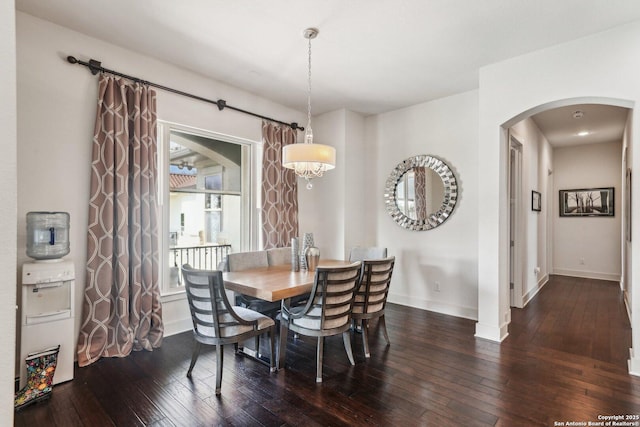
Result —
[{"label": "white dining room ceiling above the pendant light", "polygon": [[472,90],[482,66],[640,19],[638,0],[16,0],[16,9],[301,111],[302,32],[316,27],[314,115]]}]

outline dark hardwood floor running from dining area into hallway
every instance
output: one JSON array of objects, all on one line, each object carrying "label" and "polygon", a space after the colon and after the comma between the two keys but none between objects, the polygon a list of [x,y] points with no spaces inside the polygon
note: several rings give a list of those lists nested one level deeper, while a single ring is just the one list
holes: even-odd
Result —
[{"label": "dark hardwood floor running from dining area into hallway", "polygon": [[[76,368],[50,400],[16,413],[16,426],[554,426],[640,415],[640,378],[627,373],[631,329],[616,283],[553,276],[509,337],[474,338],[475,322],[390,304],[386,347],[372,325],[371,359],[353,340],[326,340],[316,384],[315,342],[289,335],[278,373],[225,349],[222,396],[215,355],[193,378],[189,333],[162,348]],[[586,425],[586,424],[585,424]]]}]

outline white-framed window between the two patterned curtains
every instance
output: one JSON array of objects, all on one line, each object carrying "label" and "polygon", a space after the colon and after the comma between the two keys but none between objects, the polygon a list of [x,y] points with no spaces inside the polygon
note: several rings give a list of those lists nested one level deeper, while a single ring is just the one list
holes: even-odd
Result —
[{"label": "white-framed window between the two patterned curtains", "polygon": [[251,141],[160,123],[163,294],[182,292],[180,266],[216,269],[254,236]]}]

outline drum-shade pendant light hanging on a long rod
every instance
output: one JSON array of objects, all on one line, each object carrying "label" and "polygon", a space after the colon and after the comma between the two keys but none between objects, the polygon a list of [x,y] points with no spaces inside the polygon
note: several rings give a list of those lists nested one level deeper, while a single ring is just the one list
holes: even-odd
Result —
[{"label": "drum-shade pendant light hanging on a long rod", "polygon": [[307,189],[313,188],[311,179],[321,177],[325,171],[336,167],[336,149],[330,145],[314,144],[311,129],[311,39],[316,38],[318,30],[307,28],[302,33],[309,40],[308,50],[308,92],[307,92],[307,127],[304,142],[285,145],[282,148],[282,166],[293,169],[307,181]]}]

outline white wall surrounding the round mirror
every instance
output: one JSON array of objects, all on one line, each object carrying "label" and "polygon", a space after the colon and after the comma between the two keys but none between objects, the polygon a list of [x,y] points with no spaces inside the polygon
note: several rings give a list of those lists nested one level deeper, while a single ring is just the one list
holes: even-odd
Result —
[{"label": "white wall surrounding the round mirror", "polygon": [[[475,319],[477,316],[478,92],[470,91],[367,119],[367,147],[375,148],[368,197],[375,201],[377,244],[396,256],[389,300]],[[418,154],[442,159],[458,181],[458,203],[451,217],[428,231],[398,226],[384,206],[389,173]],[[484,168],[482,168],[484,169]],[[435,290],[435,282],[441,290]]]}]

